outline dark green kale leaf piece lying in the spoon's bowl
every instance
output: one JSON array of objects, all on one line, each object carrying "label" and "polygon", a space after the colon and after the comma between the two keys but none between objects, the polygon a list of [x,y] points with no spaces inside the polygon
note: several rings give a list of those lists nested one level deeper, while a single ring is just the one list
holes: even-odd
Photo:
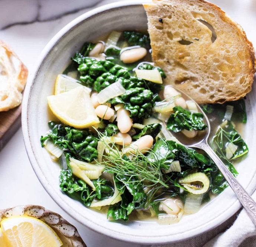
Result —
[{"label": "dark green kale leaf piece lying in the spoon's bowl", "polygon": [[170,115],[167,121],[167,129],[174,132],[186,130],[206,130],[207,125],[203,122],[202,113],[192,113],[180,106],[173,107],[175,113]]}]

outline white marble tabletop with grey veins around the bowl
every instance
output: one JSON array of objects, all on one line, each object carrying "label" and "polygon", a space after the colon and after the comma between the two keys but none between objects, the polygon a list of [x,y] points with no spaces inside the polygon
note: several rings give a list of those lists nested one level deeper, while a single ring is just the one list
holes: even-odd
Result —
[{"label": "white marble tabletop with grey veins around the bowl", "polygon": [[[0,39],[9,44],[26,64],[31,78],[43,47],[63,26],[93,7],[114,1],[103,0],[100,4],[95,4],[96,1],[93,0],[76,0],[76,5],[71,6],[69,0],[1,0]],[[72,1],[72,4],[74,2]],[[256,45],[256,0],[212,2],[241,24],[248,39]],[[87,9],[86,6],[93,7]],[[71,14],[68,14],[70,12]],[[66,214],[50,198],[29,163],[21,128],[0,153],[0,188],[0,209],[25,204],[46,207],[75,225],[88,247],[139,247],[112,240],[89,230]]]}]

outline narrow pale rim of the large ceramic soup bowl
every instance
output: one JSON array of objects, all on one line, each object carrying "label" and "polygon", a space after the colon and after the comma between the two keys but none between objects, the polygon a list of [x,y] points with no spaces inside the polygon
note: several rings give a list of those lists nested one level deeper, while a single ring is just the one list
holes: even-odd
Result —
[{"label": "narrow pale rim of the large ceramic soup bowl", "polygon": [[[106,4],[104,6],[98,7],[96,9],[90,10],[81,16],[77,17],[70,23],[68,23],[65,27],[63,27],[50,41],[47,43],[45,48],[42,50],[34,71],[32,71],[31,78],[29,78],[29,81],[27,83],[26,89],[24,91],[24,97],[23,97],[23,103],[22,103],[22,132],[23,132],[23,139],[24,144],[26,147],[27,155],[29,157],[30,163],[32,165],[33,170],[36,173],[37,178],[39,179],[42,186],[45,188],[47,193],[52,197],[52,199],[58,204],[60,208],[62,208],[67,214],[69,214],[71,217],[73,217],[75,220],[77,220],[79,223],[81,223],[83,226],[86,226],[90,228],[91,230],[104,234],[108,237],[111,237],[116,240],[126,241],[129,243],[137,243],[137,244],[166,244],[166,243],[174,243],[177,241],[183,241],[192,237],[196,237],[206,231],[209,231],[224,221],[226,221],[228,218],[233,216],[239,208],[241,207],[241,204],[239,203],[238,199],[236,199],[235,203],[233,203],[232,206],[230,206],[228,211],[220,213],[218,216],[216,216],[213,220],[209,221],[208,223],[204,224],[203,227],[200,226],[196,234],[193,232],[186,232],[186,237],[183,236],[183,233],[175,234],[175,235],[166,235],[166,236],[147,236],[142,237],[138,235],[132,235],[127,233],[121,233],[119,231],[114,231],[108,228],[105,228],[99,224],[94,223],[93,221],[86,219],[85,217],[81,217],[79,213],[74,210],[72,207],[70,207],[65,201],[62,200],[62,198],[59,197],[59,195],[52,190],[49,182],[47,181],[46,177],[40,176],[42,174],[42,171],[39,166],[39,162],[37,162],[33,146],[31,143],[31,137],[29,133],[28,128],[28,111],[29,111],[29,100],[30,100],[30,94],[33,88],[33,84],[36,81],[36,78],[39,74],[39,69],[44,63],[44,61],[47,59],[47,55],[49,52],[54,48],[54,46],[58,43],[58,41],[66,34],[69,33],[70,30],[76,28],[81,22],[83,22],[86,19],[89,19],[92,16],[95,16],[99,13],[110,11],[113,9],[118,9],[126,6],[141,6],[143,3],[148,3],[150,0],[129,0],[129,1],[119,1],[115,3]],[[256,174],[253,176],[252,180],[256,178]],[[230,188],[227,188],[227,190]],[[231,190],[231,189],[230,189]],[[248,191],[249,193],[252,193],[252,188],[250,188]],[[195,229],[194,229],[195,230]]]}]

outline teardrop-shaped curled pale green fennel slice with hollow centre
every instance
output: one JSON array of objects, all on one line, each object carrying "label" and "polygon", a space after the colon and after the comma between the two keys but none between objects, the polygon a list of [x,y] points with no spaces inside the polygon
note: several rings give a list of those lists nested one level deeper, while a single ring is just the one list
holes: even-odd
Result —
[{"label": "teardrop-shaped curled pale green fennel slice with hollow centre", "polygon": [[198,195],[205,193],[210,186],[210,180],[204,173],[192,173],[180,178],[179,183],[190,193]]}]

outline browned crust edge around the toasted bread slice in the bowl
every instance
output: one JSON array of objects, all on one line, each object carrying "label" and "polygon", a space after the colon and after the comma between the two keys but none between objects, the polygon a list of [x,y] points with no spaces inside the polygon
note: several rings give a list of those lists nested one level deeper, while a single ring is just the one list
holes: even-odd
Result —
[{"label": "browned crust edge around the toasted bread slice in the bowl", "polygon": [[[235,95],[228,95],[226,94],[225,97],[222,97],[221,99],[210,99],[209,97],[201,97],[199,92],[198,95],[195,96],[195,93],[193,92],[193,94],[190,94],[189,91],[186,91],[186,93],[190,94],[191,97],[193,97],[198,103],[203,104],[203,103],[224,103],[226,101],[232,101],[232,100],[238,100],[241,97],[245,96],[247,93],[249,93],[249,91],[251,91],[252,89],[252,83],[253,83],[253,79],[254,79],[254,75],[255,75],[255,71],[256,71],[256,60],[255,60],[255,49],[253,48],[252,43],[247,39],[246,33],[244,32],[243,28],[236,23],[236,21],[234,21],[231,17],[229,17],[222,9],[220,9],[220,7],[216,6],[213,3],[210,3],[208,1],[204,1],[204,0],[153,0],[153,3],[148,3],[148,4],[144,4],[144,8],[147,12],[148,15],[148,26],[149,26],[149,33],[150,36],[154,36],[155,33],[152,31],[152,28],[150,28],[150,25],[153,26],[153,23],[150,23],[150,17],[152,18],[151,12],[155,11],[154,13],[157,13],[154,17],[158,16],[159,18],[161,17],[162,14],[162,9],[161,7],[163,6],[170,6],[171,4],[174,3],[193,3],[194,5],[198,6],[203,4],[203,7],[210,7],[211,10],[217,14],[217,16],[223,21],[225,22],[226,25],[229,26],[233,26],[235,27],[235,29],[239,32],[240,37],[242,38],[242,41],[244,44],[246,44],[246,50],[247,53],[249,55],[249,62],[247,64],[244,64],[243,69],[247,71],[247,76],[246,76],[246,87],[244,87],[243,89],[241,89],[239,92],[237,91],[237,93]],[[162,40],[165,39],[165,36],[161,37]],[[154,39],[152,39],[154,40]],[[168,40],[168,39],[167,39]],[[153,44],[152,44],[153,43]],[[166,67],[166,61],[163,61],[161,59],[158,59],[158,49],[157,47],[154,46],[154,42],[151,41],[151,46],[152,46],[152,58],[155,61],[155,63],[160,66],[163,67],[163,69],[165,70]],[[165,50],[167,49],[167,47],[165,47]],[[178,59],[177,59],[178,60]],[[245,68],[245,66],[247,66],[247,68]],[[165,71],[168,72],[168,71]],[[165,83],[169,84],[169,77],[167,76],[167,80],[165,80]],[[170,84],[174,84],[174,83],[170,83]],[[186,83],[184,83],[186,84]],[[184,84],[180,84],[180,85],[174,85],[179,87],[181,90],[185,89]]]}]

